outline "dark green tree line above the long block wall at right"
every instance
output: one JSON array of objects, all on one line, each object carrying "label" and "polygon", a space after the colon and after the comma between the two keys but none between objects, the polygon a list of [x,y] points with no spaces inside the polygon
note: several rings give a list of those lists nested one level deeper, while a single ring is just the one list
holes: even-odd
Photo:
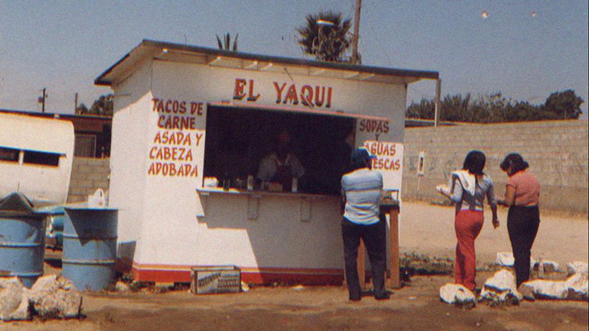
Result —
[{"label": "dark green tree line above the long block wall at right", "polygon": [[[498,123],[579,118],[583,99],[574,90],[554,92],[544,104],[505,98],[501,92],[473,98],[470,94],[446,95],[440,100],[440,120],[470,123]],[[433,120],[435,102],[422,98],[405,111],[408,118]]]}]

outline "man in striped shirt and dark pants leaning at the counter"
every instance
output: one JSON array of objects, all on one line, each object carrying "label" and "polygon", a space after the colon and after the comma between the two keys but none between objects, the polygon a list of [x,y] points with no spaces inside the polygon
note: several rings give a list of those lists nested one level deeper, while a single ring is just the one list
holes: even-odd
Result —
[{"label": "man in striped shirt and dark pants leaning at the counter", "polygon": [[366,148],[354,150],[351,158],[352,171],[342,177],[342,198],[345,204],[342,238],[349,298],[358,301],[362,297],[356,263],[362,238],[372,269],[375,298],[389,299],[385,289],[386,226],[379,219],[382,174],[372,171],[373,157]]}]

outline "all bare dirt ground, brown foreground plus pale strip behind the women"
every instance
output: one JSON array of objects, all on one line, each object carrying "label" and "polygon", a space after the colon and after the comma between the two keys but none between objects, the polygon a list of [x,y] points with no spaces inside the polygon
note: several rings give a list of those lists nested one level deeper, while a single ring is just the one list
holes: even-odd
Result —
[{"label": "all bare dirt ground, brown foreground plus pale strip behind the women", "polygon": [[[452,256],[452,208],[405,203],[401,249],[430,256]],[[505,210],[501,228],[485,224],[477,240],[479,262],[510,251]],[[490,220],[490,215],[487,216]],[[586,217],[542,215],[532,255],[560,263],[587,261]],[[47,265],[47,273],[59,272]],[[482,284],[492,272],[479,272]],[[343,287],[263,287],[236,294],[196,296],[187,290],[154,293],[85,293],[84,317],[75,320],[0,322],[0,330],[587,330],[589,303],[536,300],[519,306],[478,304],[470,310],[439,300],[439,287],[451,275],[413,276],[391,300],[363,297],[349,302]]]}]

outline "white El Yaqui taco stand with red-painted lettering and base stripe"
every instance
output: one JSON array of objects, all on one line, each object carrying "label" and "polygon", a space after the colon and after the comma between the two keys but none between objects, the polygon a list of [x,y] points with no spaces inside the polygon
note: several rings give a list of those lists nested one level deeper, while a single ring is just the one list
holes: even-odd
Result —
[{"label": "white El Yaqui taco stand with red-painted lettering and base stripe", "polygon": [[[346,138],[378,154],[398,192],[407,85],[437,78],[144,40],[95,80],[115,95],[118,256],[140,281],[188,282],[191,266],[230,264],[247,282],[341,282]],[[306,168],[299,191],[246,190],[285,129]]]}]

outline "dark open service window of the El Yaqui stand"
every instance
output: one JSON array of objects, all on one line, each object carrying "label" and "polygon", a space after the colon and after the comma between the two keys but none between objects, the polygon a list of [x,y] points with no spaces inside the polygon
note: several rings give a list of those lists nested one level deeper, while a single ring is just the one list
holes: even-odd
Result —
[{"label": "dark open service window of the El Yaqui stand", "polygon": [[[299,193],[340,194],[340,178],[355,146],[355,127],[356,118],[349,116],[210,104],[204,176],[216,177],[220,186],[229,180],[229,186],[238,189],[245,189],[252,176],[256,190],[267,189],[260,165],[286,144],[304,170],[297,181]],[[276,166],[282,166],[280,161]]]}]

